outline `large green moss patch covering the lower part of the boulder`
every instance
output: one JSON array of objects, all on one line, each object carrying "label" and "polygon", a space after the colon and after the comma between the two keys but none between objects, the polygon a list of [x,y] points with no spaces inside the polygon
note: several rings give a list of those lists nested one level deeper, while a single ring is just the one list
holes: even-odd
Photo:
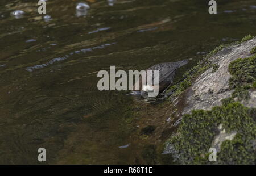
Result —
[{"label": "large green moss patch covering the lower part of the boulder", "polygon": [[[213,107],[211,111],[193,110],[191,114],[183,116],[177,133],[167,141],[173,146],[172,154],[182,164],[208,164],[208,150],[212,147],[217,127],[223,124],[226,131],[237,131],[244,141],[251,141],[256,137],[256,123],[251,116],[250,109],[238,102],[229,100],[228,104]],[[224,149],[217,153],[217,162],[229,164],[227,160],[232,152],[236,153],[232,161],[242,164],[251,164],[256,159],[252,154],[248,159],[247,153],[253,150],[252,143],[223,143]],[[229,147],[227,147],[229,145]],[[231,162],[232,163],[232,162]]]}]

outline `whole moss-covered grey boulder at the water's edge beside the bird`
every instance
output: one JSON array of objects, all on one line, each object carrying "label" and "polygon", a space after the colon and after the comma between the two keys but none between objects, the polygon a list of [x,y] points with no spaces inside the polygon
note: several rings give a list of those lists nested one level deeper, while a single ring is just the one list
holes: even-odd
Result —
[{"label": "whole moss-covered grey boulder at the water's edge beside the bird", "polygon": [[216,148],[215,164],[256,164],[255,45],[250,35],[221,45],[170,87],[179,120],[162,154],[181,164],[213,164],[208,150]]}]

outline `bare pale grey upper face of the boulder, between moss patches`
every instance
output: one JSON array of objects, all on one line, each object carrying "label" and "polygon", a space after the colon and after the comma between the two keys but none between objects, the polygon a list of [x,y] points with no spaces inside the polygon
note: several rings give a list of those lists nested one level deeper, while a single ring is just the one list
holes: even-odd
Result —
[{"label": "bare pale grey upper face of the boulder, between moss patches", "polygon": [[[220,106],[221,99],[228,98],[234,90],[229,90],[229,79],[231,75],[228,72],[229,63],[237,58],[246,58],[250,56],[251,48],[256,45],[256,37],[245,43],[234,45],[222,49],[216,55],[209,58],[219,68],[212,73],[212,68],[206,70],[199,76],[187,94],[187,105],[182,114],[188,114],[191,110],[203,109],[210,110],[213,106]],[[211,90],[211,91],[209,91]],[[254,107],[256,101],[256,92],[250,92],[249,102],[242,104]]]}]

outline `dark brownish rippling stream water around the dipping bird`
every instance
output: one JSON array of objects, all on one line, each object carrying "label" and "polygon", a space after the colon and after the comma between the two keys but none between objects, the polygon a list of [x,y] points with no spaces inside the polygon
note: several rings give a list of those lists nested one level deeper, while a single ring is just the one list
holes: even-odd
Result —
[{"label": "dark brownish rippling stream water around the dipping bird", "polygon": [[51,19],[37,1],[0,2],[0,164],[39,164],[40,147],[48,164],[166,163],[168,106],[98,91],[97,72],[192,58],[177,79],[217,45],[256,35],[255,1],[218,1],[210,15],[203,0],[88,0],[85,16],[77,2],[48,0]]}]

